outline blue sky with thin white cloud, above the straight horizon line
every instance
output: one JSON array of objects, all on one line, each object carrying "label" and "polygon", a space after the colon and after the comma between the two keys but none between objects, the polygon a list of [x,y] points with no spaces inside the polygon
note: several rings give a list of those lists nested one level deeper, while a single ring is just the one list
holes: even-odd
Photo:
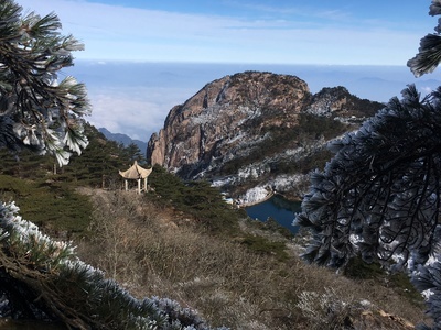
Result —
[{"label": "blue sky with thin white cloud, above the straight horizon line", "polygon": [[18,0],[99,61],[404,65],[430,0]]}]

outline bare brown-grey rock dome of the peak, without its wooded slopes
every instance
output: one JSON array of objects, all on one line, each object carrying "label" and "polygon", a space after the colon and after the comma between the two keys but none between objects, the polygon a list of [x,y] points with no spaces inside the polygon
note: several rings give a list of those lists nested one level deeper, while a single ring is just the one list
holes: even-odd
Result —
[{"label": "bare brown-grey rock dome of the peak, without its wooded slopes", "polygon": [[295,76],[225,76],[170,111],[164,128],[149,141],[148,157],[190,177],[265,139],[261,132],[268,127],[294,125],[311,97],[306,82]]}]

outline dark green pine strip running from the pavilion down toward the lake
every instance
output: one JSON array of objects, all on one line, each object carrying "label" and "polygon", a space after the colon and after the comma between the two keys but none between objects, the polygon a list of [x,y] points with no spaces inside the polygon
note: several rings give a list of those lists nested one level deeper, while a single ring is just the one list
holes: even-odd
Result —
[{"label": "dark green pine strip running from the pavilion down toward the lake", "polygon": [[238,232],[241,212],[227,205],[220,191],[208,183],[185,183],[158,165],[153,167],[149,183],[154,193],[147,195],[147,198],[154,196],[160,202],[191,215],[203,228],[214,233]]}]

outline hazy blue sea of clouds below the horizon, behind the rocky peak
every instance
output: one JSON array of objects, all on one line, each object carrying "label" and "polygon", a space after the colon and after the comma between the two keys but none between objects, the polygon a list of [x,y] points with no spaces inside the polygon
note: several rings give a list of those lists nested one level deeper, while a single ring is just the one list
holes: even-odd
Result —
[{"label": "hazy blue sea of clouds below the horizon, behind the rocky peak", "polygon": [[312,92],[323,87],[344,86],[359,98],[387,102],[408,84],[422,95],[441,85],[441,76],[416,79],[406,66],[263,65],[135,63],[76,61],[61,77],[73,75],[86,84],[93,106],[87,119],[97,128],[148,141],[164,123],[166,114],[206,84],[245,70],[294,75]]}]

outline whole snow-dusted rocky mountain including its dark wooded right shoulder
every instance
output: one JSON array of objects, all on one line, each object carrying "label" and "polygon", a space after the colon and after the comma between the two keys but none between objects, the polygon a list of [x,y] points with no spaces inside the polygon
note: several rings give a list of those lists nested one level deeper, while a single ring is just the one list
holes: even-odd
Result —
[{"label": "whole snow-dusted rocky mountain including its dark wooded right shoulder", "polygon": [[217,178],[224,187],[293,179],[299,170],[288,164],[380,107],[343,87],[312,95],[295,76],[246,72],[209,82],[174,107],[147,157],[183,178]]}]

